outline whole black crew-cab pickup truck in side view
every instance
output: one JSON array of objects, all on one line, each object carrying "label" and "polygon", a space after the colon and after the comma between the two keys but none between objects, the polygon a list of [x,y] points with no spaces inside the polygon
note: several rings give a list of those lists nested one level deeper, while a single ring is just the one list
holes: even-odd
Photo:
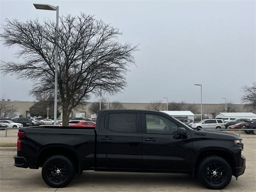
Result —
[{"label": "whole black crew-cab pickup truck in side view", "polygon": [[193,130],[148,110],[103,110],[95,128],[28,127],[18,132],[16,167],[38,169],[51,187],[84,170],[188,173],[210,189],[226,187],[245,170],[242,138]]}]

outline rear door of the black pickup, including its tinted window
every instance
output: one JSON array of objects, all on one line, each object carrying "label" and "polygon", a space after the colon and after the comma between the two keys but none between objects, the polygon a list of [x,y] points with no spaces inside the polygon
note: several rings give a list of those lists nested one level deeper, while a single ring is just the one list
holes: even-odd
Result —
[{"label": "rear door of the black pickup, including its tinted window", "polygon": [[97,168],[142,167],[140,112],[105,112],[98,135]]}]

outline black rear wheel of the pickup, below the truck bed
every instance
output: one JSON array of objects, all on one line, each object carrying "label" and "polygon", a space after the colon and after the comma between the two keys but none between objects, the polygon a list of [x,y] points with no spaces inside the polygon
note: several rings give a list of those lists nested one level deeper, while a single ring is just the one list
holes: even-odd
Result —
[{"label": "black rear wheel of the pickup, below the truck bed", "polygon": [[67,186],[74,179],[75,174],[74,163],[63,155],[54,155],[48,158],[42,166],[42,178],[48,186],[53,188]]}]

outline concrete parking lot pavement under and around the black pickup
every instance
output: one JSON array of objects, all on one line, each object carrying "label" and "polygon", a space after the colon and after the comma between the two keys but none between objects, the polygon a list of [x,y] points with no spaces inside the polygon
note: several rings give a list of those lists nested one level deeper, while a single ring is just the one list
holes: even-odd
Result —
[{"label": "concrete parking lot pavement under and around the black pickup", "polygon": [[[256,189],[256,136],[242,134],[246,157],[246,171],[222,192],[254,192]],[[121,173],[85,171],[65,188],[48,187],[41,169],[24,169],[13,166],[16,150],[0,148],[1,192],[203,192],[206,189],[186,174]]]}]

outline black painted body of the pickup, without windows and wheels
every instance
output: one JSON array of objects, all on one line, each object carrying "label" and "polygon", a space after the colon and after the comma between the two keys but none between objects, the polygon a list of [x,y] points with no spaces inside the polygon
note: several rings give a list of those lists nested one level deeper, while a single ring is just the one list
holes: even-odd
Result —
[{"label": "black painted body of the pickup, without windows and wheels", "polygon": [[[136,132],[107,129],[108,114],[136,113]],[[146,132],[145,114],[156,114],[186,129],[186,134],[150,134]],[[61,126],[20,128],[22,149],[14,156],[15,166],[39,168],[54,154],[71,154],[82,170],[124,172],[192,173],[209,154],[228,158],[236,177],[245,170],[241,155],[243,144],[235,134],[218,130],[192,130],[168,114],[147,110],[104,110],[99,112],[95,129]]]}]

